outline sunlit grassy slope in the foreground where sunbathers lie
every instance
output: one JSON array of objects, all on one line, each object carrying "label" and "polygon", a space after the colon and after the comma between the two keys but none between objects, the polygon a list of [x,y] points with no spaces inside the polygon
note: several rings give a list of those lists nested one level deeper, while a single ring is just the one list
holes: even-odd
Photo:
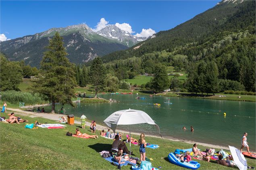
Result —
[{"label": "sunlit grassy slope in the foreground where sunbathers lie", "polygon": [[[3,113],[2,113],[3,114]],[[5,114],[5,113],[4,113]],[[31,118],[29,122],[54,121],[43,118]],[[1,159],[0,169],[116,169],[100,157],[98,152],[109,150],[112,140],[99,137],[98,139],[80,139],[65,136],[67,131],[75,132],[76,125],[67,126],[65,129],[25,129],[25,124],[0,123],[1,127]],[[91,132],[82,129],[82,133]],[[97,131],[99,134],[99,131]],[[138,136],[134,135],[135,138]],[[154,137],[147,137],[146,141],[160,145],[156,150],[146,149],[146,156],[152,158],[152,165],[162,166],[162,169],[186,169],[171,164],[167,160],[169,152],[176,148],[189,148],[190,144]],[[139,147],[132,145],[133,153],[139,157]],[[199,145],[202,150],[205,147]],[[12,163],[10,163],[12,162]],[[201,169],[233,169],[216,164],[214,161],[208,163],[198,161]],[[255,165],[255,160],[248,159],[248,165]],[[122,169],[129,169],[124,166]]]}]

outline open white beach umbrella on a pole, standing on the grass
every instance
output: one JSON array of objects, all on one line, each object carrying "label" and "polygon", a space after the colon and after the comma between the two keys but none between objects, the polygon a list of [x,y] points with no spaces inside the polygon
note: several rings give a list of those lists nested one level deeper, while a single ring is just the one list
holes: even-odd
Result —
[{"label": "open white beach umbrella on a pole, standing on the grass", "polygon": [[[116,111],[104,120],[104,123],[110,127],[114,132],[116,131],[117,125],[135,125],[141,123],[148,123],[155,125],[160,134],[158,125],[151,119],[151,117],[144,111],[127,109],[122,111]],[[130,137],[131,129],[129,127]],[[160,134],[161,135],[161,134]],[[162,136],[161,136],[162,137]],[[131,155],[131,140],[130,140],[130,155]]]}]

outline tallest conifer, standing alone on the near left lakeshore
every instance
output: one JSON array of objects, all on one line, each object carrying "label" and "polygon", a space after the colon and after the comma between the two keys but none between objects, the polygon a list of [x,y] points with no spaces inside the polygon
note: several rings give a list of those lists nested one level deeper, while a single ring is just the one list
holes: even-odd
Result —
[{"label": "tallest conifer, standing alone on the near left lakeshore", "polygon": [[71,98],[75,93],[75,72],[66,57],[67,52],[58,32],[50,39],[46,48],[48,51],[44,52],[40,63],[41,76],[33,80],[31,90],[47,96],[52,102],[52,113],[54,113],[56,102],[73,105]]}]

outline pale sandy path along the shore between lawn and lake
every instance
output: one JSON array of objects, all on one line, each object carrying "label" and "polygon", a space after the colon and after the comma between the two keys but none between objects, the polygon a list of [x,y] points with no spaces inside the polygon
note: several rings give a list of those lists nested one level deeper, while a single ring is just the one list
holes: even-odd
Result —
[{"label": "pale sandy path along the shore between lawn and lake", "polygon": [[[33,117],[33,118],[35,118],[35,117],[42,117],[42,118],[50,119],[50,120],[54,120],[54,121],[59,121],[60,117],[63,116],[62,114],[58,114],[58,113],[37,113],[37,112],[23,111],[21,109],[14,109],[14,108],[8,108],[8,110],[9,111],[15,111],[19,115],[29,116],[29,117]],[[67,116],[67,115],[65,115],[65,116]],[[75,120],[74,123],[78,124],[78,125],[81,125],[80,121],[76,121]],[[85,121],[85,125],[87,127],[89,127],[90,122]],[[109,128],[107,126],[99,125],[98,124],[97,125],[97,129],[98,130],[104,129],[105,131],[107,131],[107,129],[109,129]],[[125,131],[123,129],[120,129],[119,131],[122,132],[122,133],[129,134],[129,131]],[[134,131],[131,131],[131,134],[133,134],[133,135],[140,135],[140,133],[134,132]],[[145,134],[148,135],[149,137],[156,137],[156,138],[160,138],[161,139],[160,136],[150,135],[148,133],[145,133]],[[178,141],[178,142],[185,142],[185,143],[191,144],[191,146],[194,143],[197,143],[197,144],[205,146],[205,147],[218,148],[218,149],[222,148],[222,149],[225,149],[225,150],[229,150],[229,147],[225,147],[225,146],[221,146],[221,145],[214,145],[214,144],[210,144],[210,143],[202,143],[202,142],[197,142],[197,141],[189,141],[189,140],[174,138],[174,137],[171,137],[171,136],[163,136],[163,139],[168,139],[168,140],[171,140],[171,141]]]}]

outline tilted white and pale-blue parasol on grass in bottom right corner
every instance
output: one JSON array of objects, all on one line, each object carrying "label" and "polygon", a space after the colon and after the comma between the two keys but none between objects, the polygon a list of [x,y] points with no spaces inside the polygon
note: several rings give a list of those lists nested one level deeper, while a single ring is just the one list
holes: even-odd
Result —
[{"label": "tilted white and pale-blue parasol on grass in bottom right corner", "polygon": [[234,159],[235,165],[239,168],[239,170],[247,170],[247,162],[244,158],[244,155],[233,146],[229,146],[229,150]]}]

